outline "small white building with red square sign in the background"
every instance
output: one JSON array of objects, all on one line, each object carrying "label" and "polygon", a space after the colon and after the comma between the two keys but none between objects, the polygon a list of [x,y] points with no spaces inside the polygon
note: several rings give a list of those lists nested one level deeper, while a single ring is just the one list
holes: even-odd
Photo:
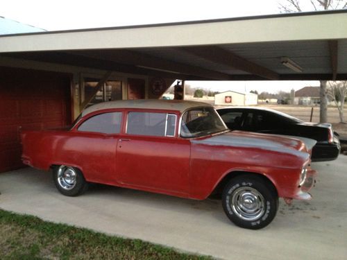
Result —
[{"label": "small white building with red square sign in the background", "polygon": [[214,105],[257,105],[258,95],[253,93],[222,92],[214,96]]}]

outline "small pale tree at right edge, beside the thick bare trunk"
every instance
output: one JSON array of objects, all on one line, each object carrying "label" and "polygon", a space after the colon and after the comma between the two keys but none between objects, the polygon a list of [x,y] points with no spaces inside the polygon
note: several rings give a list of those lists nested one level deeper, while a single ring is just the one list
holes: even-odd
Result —
[{"label": "small pale tree at right edge, beside the thick bare trunk", "polygon": [[328,96],[334,100],[339,110],[340,122],[344,122],[344,104],[347,98],[346,81],[330,81],[328,87]]}]

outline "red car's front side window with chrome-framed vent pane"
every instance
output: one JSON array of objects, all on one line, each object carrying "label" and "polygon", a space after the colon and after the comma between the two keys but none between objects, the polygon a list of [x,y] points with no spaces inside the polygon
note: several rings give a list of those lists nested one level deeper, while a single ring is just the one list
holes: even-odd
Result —
[{"label": "red car's front side window with chrome-framed vent pane", "polygon": [[153,137],[174,137],[176,114],[129,112],[126,133]]}]

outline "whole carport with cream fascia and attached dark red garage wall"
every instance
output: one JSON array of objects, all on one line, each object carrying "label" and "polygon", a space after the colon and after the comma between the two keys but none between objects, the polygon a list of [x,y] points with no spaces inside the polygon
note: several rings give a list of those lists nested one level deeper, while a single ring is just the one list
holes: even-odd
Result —
[{"label": "whole carport with cream fascia and attached dark red garage wall", "polygon": [[6,171],[21,128],[71,123],[110,80],[121,99],[160,98],[176,79],[346,80],[347,10],[2,35],[0,72]]}]

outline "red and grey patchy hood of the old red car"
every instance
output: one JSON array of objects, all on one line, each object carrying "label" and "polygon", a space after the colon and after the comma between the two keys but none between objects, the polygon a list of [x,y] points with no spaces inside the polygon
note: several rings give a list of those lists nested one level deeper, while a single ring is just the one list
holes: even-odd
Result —
[{"label": "red and grey patchy hood of the old red car", "polygon": [[307,157],[307,148],[305,148],[305,143],[302,140],[296,137],[281,135],[268,135],[235,130],[204,139],[194,139],[192,142],[195,144],[205,144],[210,146],[257,148],[262,150],[271,150],[276,153],[289,153],[299,157]]}]

